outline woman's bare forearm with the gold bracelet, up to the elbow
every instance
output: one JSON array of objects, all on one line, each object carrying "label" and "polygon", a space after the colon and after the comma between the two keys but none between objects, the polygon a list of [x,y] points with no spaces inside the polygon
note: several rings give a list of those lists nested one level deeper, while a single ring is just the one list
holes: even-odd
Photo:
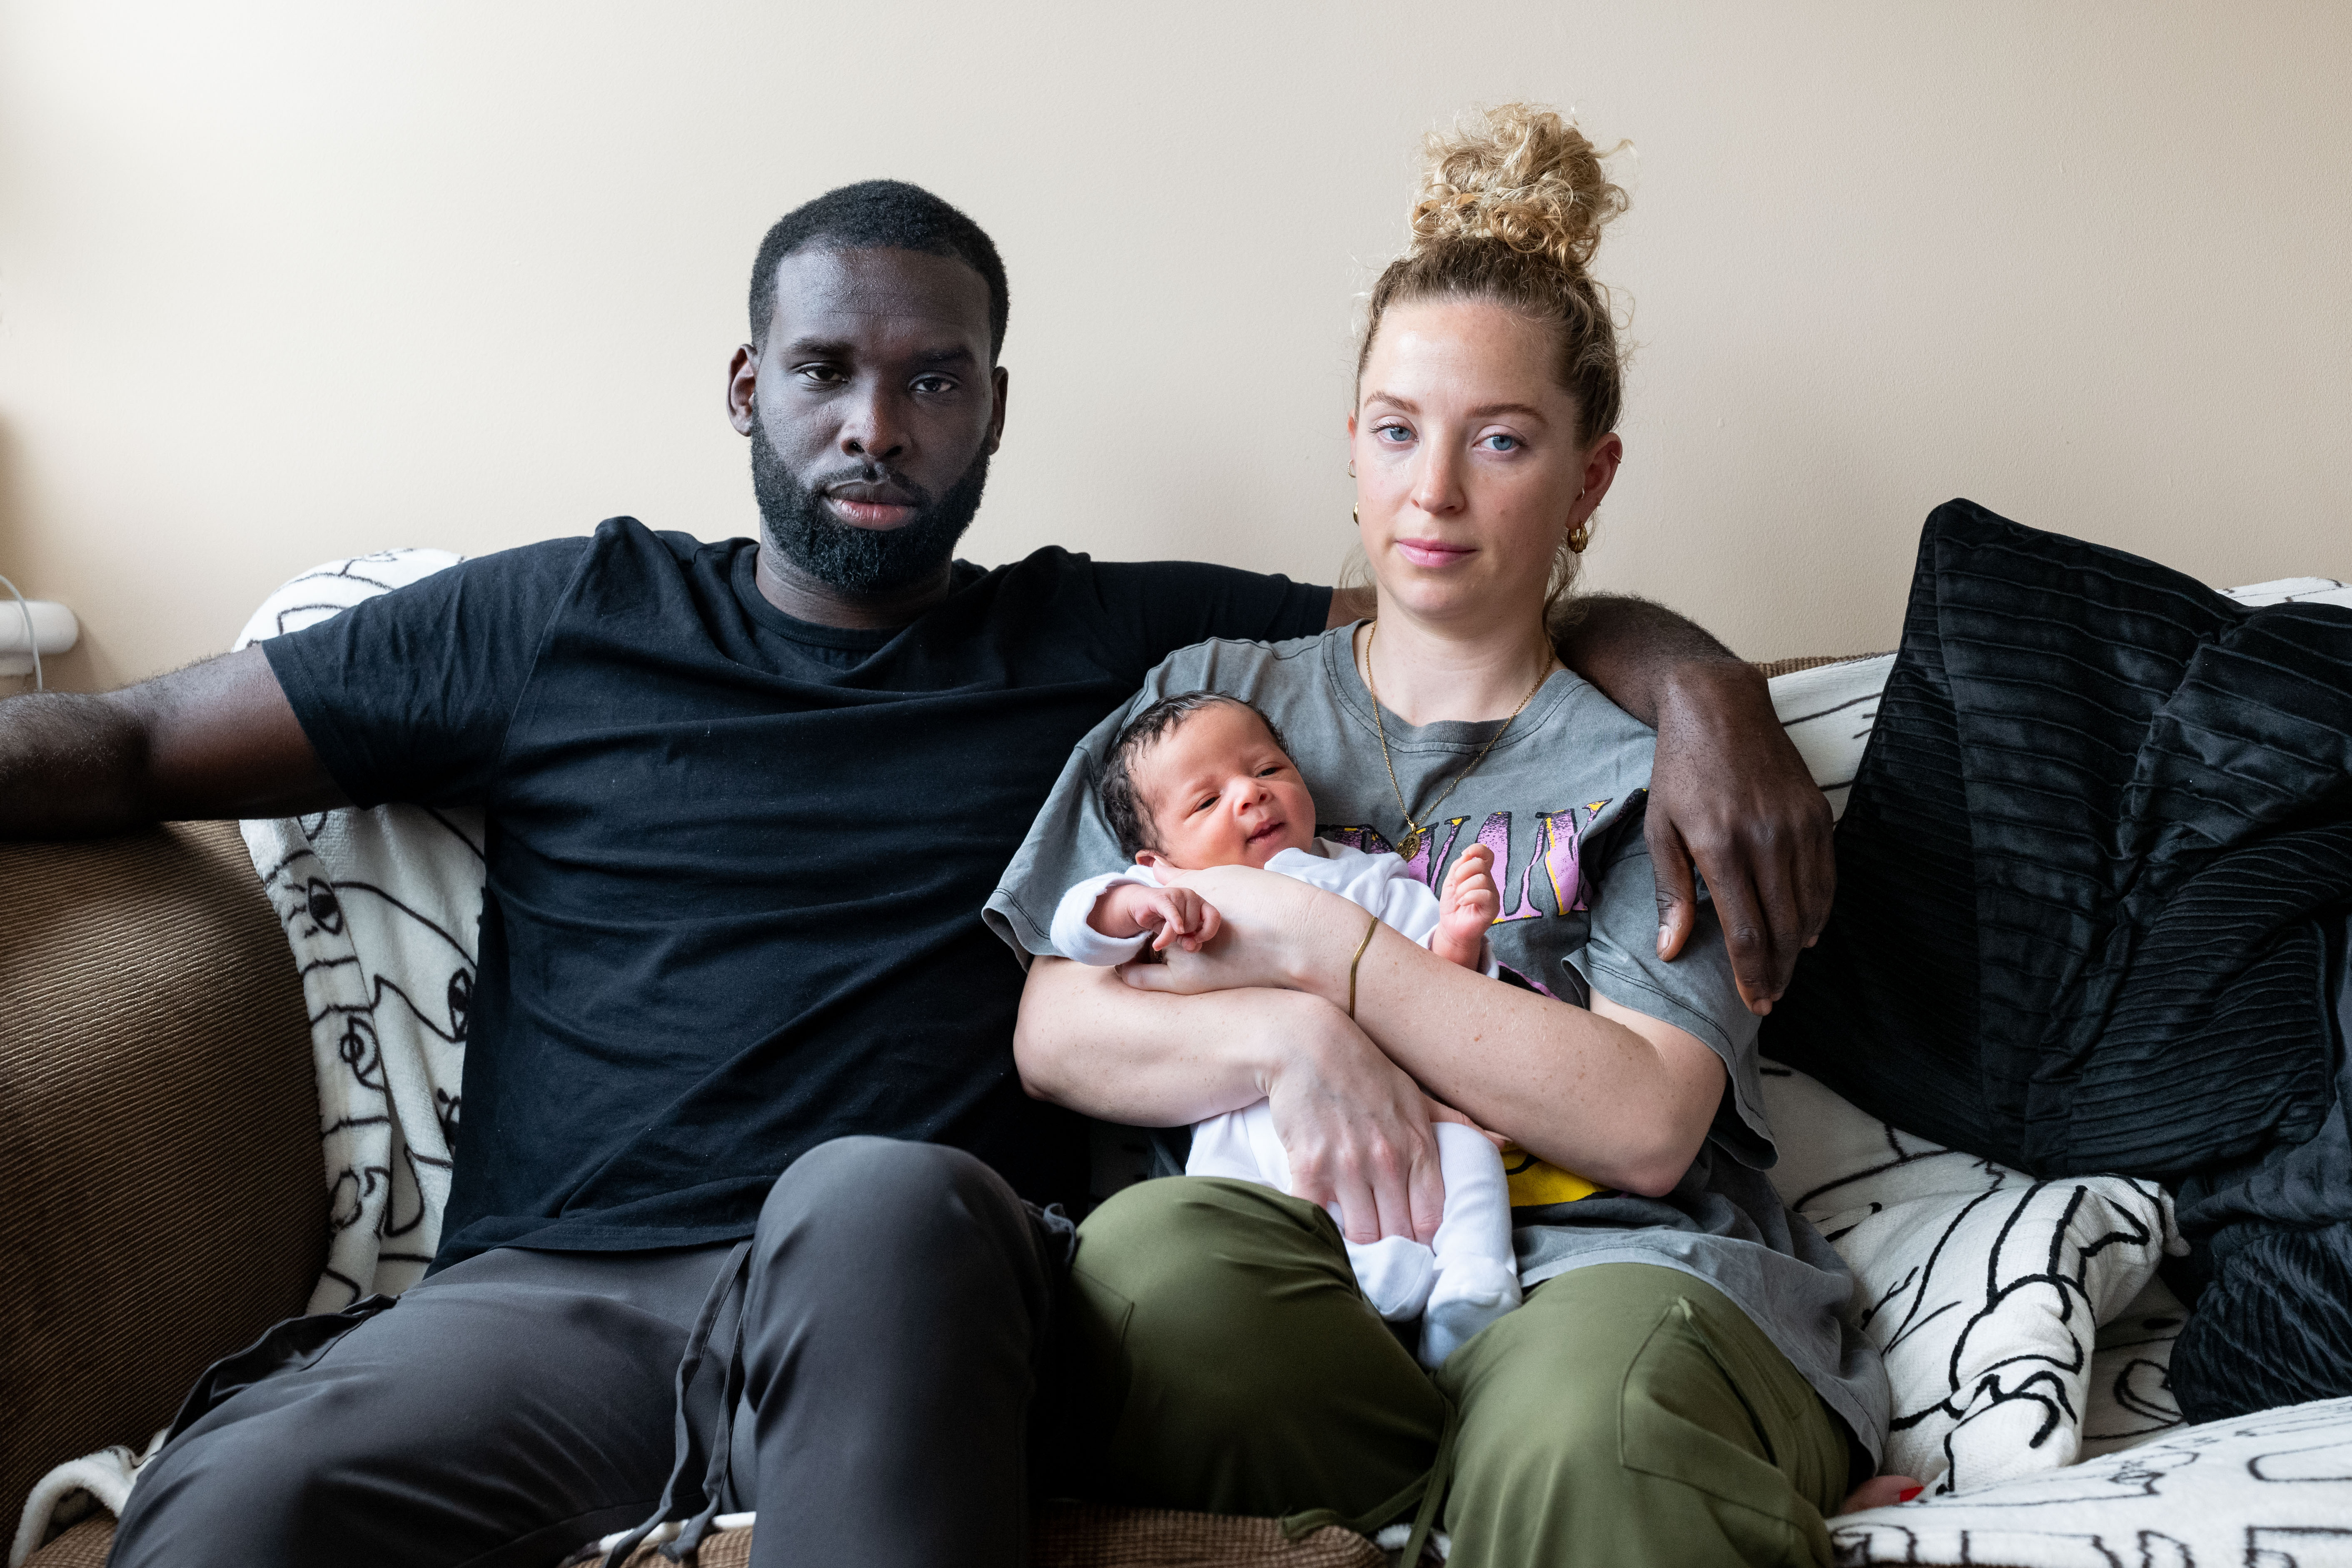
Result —
[{"label": "woman's bare forearm with the gold bracelet, up to the elbow", "polygon": [[[1355,933],[1301,983],[1345,1004]],[[1446,964],[1390,926],[1374,931],[1355,976],[1355,1023],[1399,1067],[1479,1126],[1604,1187],[1665,1192],[1705,1143],[1722,1098],[1722,1060],[1656,1020],[1496,985]]]}]

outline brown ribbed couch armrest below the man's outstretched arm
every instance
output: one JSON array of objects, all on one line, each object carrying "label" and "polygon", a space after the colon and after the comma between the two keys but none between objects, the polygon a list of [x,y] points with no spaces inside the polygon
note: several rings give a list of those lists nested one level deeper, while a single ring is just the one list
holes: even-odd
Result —
[{"label": "brown ribbed couch armrest below the man's outstretched arm", "polygon": [[0,844],[0,1500],[143,1443],[327,1253],[294,957],[235,823]]}]

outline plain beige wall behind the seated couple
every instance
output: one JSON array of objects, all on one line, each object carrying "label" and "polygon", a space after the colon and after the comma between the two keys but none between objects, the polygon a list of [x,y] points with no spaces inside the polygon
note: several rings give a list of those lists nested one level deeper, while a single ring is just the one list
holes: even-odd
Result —
[{"label": "plain beige wall behind the seated couple", "polygon": [[0,571],[68,684],[292,571],[755,529],[760,230],[922,181],[1014,277],[967,541],[1329,578],[1352,296],[1418,134],[1639,146],[1590,581],[1889,646],[1966,494],[2216,583],[2352,576],[2352,7],[0,7]]}]

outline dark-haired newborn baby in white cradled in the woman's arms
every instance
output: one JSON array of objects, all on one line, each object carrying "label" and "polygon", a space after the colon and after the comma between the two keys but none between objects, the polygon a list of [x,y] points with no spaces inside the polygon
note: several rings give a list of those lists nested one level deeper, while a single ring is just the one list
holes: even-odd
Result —
[{"label": "dark-haired newborn baby in white cradled in the woman's arms", "polygon": [[[1494,851],[1465,849],[1430,893],[1402,858],[1369,856],[1315,837],[1315,797],[1254,705],[1190,691],[1152,703],[1120,731],[1101,780],[1103,813],[1134,858],[1089,877],[1054,912],[1054,947],[1080,964],[1127,964],[1171,943],[1200,950],[1218,914],[1200,893],[1162,886],[1160,872],[1254,865],[1296,877],[1378,914],[1463,969],[1496,973],[1486,926],[1503,907]],[[1383,1237],[1348,1244],[1348,1262],[1374,1309],[1421,1316],[1421,1363],[1437,1368],[1470,1335],[1519,1305],[1503,1157],[1477,1128],[1437,1121],[1446,1185],[1437,1241]],[[1265,1100],[1192,1128],[1185,1175],[1225,1175],[1291,1190],[1291,1164]],[[1338,1206],[1329,1206],[1334,1215]]]}]

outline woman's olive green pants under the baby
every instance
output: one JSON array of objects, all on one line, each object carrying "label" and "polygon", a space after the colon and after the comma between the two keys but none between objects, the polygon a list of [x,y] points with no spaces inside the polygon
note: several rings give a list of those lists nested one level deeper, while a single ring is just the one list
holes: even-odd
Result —
[{"label": "woman's olive green pants under the baby", "polygon": [[1559,1274],[1430,1378],[1338,1227],[1249,1182],[1129,1187],[1077,1232],[1056,1488],[1148,1507],[1411,1516],[1454,1420],[1454,1568],[1830,1561],[1844,1427],[1705,1281]]}]

